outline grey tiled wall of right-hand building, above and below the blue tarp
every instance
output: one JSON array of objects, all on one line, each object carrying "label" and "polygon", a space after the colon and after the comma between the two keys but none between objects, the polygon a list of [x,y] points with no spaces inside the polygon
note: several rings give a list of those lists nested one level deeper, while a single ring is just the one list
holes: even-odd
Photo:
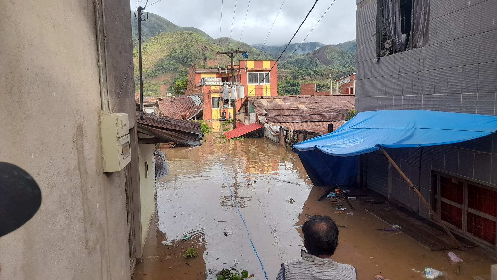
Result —
[{"label": "grey tiled wall of right-hand building, above and below the blue tarp", "polygon": [[[427,109],[495,115],[497,53],[492,45],[497,41],[496,15],[495,0],[431,0],[428,45],[374,63],[376,0],[359,0],[356,110]],[[429,201],[431,171],[497,187],[496,135],[422,151],[392,149],[392,154]],[[392,197],[417,211],[417,197],[407,182],[395,170],[391,179]]]}]

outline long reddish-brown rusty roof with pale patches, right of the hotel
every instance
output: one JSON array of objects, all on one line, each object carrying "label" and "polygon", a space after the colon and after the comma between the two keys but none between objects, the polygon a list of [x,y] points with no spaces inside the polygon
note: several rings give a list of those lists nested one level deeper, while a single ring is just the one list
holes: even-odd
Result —
[{"label": "long reddish-brown rusty roof with pale patches, right of the hotel", "polygon": [[287,95],[250,100],[261,123],[346,121],[353,95]]}]

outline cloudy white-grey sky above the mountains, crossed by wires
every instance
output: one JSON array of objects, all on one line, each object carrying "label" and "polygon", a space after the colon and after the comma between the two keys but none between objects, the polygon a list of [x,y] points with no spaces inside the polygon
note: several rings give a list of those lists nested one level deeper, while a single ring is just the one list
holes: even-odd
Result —
[{"label": "cloudy white-grey sky above the mountains, crossed by wires", "polygon": [[[146,1],[146,0],[143,0]],[[159,14],[179,26],[199,28],[213,38],[229,37],[248,44],[264,43],[271,25],[276,18],[283,0],[149,0],[147,10]],[[221,16],[221,2],[223,11]],[[319,0],[313,11],[292,43],[300,43],[325,13],[333,0]],[[236,3],[236,10],[235,10]],[[313,0],[285,0],[274,26],[267,38],[266,45],[283,45],[288,43],[295,30],[311,9]],[[143,2],[131,0],[131,8],[144,5]],[[245,15],[247,21],[244,26]],[[355,0],[335,0],[326,15],[309,34],[305,42],[338,44],[355,39]],[[235,19],[233,21],[233,14]],[[222,21],[221,21],[222,18]],[[233,31],[232,31],[233,21]]]}]

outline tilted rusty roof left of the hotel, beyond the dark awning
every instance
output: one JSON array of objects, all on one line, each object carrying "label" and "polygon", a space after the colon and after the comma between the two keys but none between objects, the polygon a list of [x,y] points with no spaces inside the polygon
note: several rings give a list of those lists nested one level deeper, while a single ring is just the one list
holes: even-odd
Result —
[{"label": "tilted rusty roof left of the hotel, beyond the dark awning", "polygon": [[[191,119],[204,109],[204,103],[198,95],[172,96],[167,99],[157,99],[162,115],[175,119]],[[172,106],[172,111],[171,111]]]}]

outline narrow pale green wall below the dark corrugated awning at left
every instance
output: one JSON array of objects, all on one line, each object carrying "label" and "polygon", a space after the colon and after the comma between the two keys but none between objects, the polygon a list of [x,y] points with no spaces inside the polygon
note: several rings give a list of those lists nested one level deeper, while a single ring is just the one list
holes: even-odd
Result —
[{"label": "narrow pale green wall below the dark corrugated awning at left", "polygon": [[[140,138],[147,138],[148,135],[140,134]],[[149,136],[150,137],[150,136]],[[150,228],[150,221],[155,212],[155,144],[140,144],[139,159],[140,159],[140,204],[142,217],[142,242],[145,244],[147,233]],[[148,163],[148,176],[146,176],[145,162]]]}]

